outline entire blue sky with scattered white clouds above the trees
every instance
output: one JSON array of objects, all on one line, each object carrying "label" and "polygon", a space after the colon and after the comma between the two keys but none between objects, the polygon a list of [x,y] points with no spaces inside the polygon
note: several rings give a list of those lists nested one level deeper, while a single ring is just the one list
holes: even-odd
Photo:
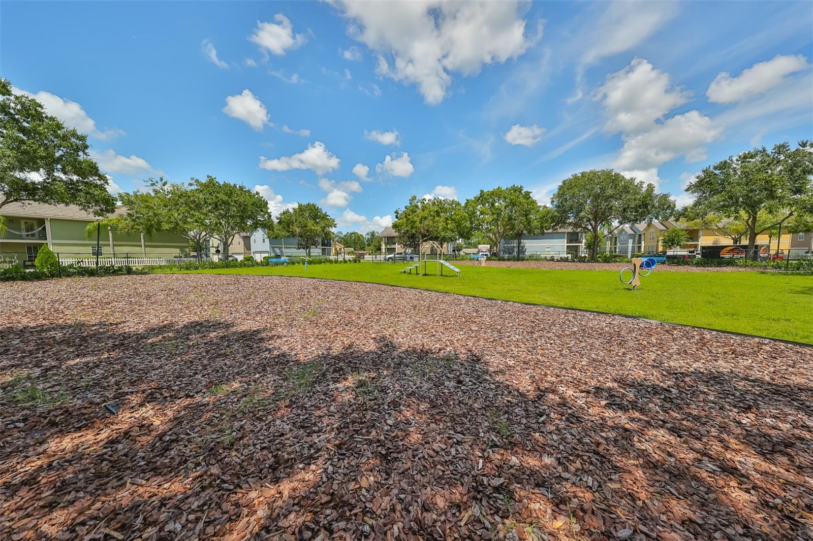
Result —
[{"label": "entire blue sky with scattered white clouds above the trees", "polygon": [[810,2],[2,2],[0,24],[0,75],[117,188],[215,175],[341,230],[602,167],[685,203],[706,164],[813,138]]}]

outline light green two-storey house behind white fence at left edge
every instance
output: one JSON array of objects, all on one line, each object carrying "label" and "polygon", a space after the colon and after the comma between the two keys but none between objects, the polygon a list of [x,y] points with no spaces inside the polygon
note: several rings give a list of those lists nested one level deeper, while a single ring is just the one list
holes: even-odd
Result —
[{"label": "light green two-storey house behind white fence at left edge", "polygon": [[[114,214],[123,211],[120,207]],[[107,265],[124,264],[122,258],[133,259],[130,264],[134,265],[139,260],[145,260],[141,264],[155,264],[152,260],[189,252],[189,242],[170,232],[124,235],[102,226],[97,243],[95,237],[85,237],[85,227],[97,217],[73,205],[9,203],[0,207],[0,216],[6,225],[6,232],[0,232],[0,261],[33,262],[42,245],[48,245],[63,261],[95,260],[98,253]]]}]

